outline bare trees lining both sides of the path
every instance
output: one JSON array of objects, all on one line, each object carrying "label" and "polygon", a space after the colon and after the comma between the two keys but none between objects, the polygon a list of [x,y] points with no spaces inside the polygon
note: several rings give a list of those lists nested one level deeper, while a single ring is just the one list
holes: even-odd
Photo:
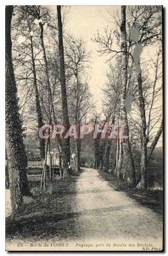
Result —
[{"label": "bare trees lining both sides of the path", "polygon": [[[31,195],[24,136],[36,137],[42,125],[63,123],[69,129],[72,123],[80,130],[89,119],[103,129],[124,123],[127,140],[116,132],[115,142],[101,141],[100,134],[92,141],[94,167],[112,169],[115,176],[143,189],[148,187],[148,162],[163,130],[160,6],[122,6],[116,14],[108,10],[112,26],[93,39],[109,63],[103,112],[96,114],[87,84],[90,52],[81,38],[64,30],[66,9],[55,10],[6,7],[6,148],[13,214],[23,196]],[[76,152],[80,171],[87,143],[59,135],[54,141],[39,139],[44,179],[49,154],[52,180],[52,147],[59,151],[64,178],[70,177],[70,151]]]}]

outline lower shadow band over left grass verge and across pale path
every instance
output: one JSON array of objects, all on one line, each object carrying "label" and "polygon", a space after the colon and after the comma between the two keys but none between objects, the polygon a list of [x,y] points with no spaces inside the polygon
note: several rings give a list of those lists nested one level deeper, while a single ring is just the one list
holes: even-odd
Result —
[{"label": "lower shadow band over left grass verge and across pale path", "polygon": [[[7,236],[20,238],[45,238],[49,240],[57,237],[57,240],[65,238],[75,239],[82,235],[77,229],[77,218],[81,216],[96,216],[109,212],[123,211],[132,208],[132,204],[115,207],[102,207],[81,212],[43,212],[33,216],[22,216],[7,224]],[[115,213],[116,214],[116,213]]]}]

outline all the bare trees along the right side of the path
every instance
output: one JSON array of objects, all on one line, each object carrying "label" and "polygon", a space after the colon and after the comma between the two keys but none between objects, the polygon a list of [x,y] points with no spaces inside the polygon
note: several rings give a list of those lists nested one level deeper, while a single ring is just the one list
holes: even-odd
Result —
[{"label": "all the bare trees along the right side of the path", "polygon": [[[110,167],[114,175],[132,186],[147,189],[148,162],[163,130],[162,9],[160,6],[119,9],[116,14],[108,11],[112,28],[107,27],[102,35],[98,32],[93,40],[100,55],[107,55],[109,61],[104,124],[124,123],[128,140],[97,142],[96,166],[108,172],[112,154]],[[148,49],[152,55],[143,56]]]}]

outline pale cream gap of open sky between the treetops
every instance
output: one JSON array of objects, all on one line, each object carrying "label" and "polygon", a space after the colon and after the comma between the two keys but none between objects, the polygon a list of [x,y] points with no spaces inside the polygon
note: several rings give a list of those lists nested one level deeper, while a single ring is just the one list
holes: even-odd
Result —
[{"label": "pale cream gap of open sky between the treetops", "polygon": [[[107,7],[106,7],[107,8]],[[112,8],[112,7],[110,7]],[[105,19],[105,7],[100,6],[70,6],[65,22],[65,29],[76,37],[87,42],[87,50],[91,50],[91,69],[89,87],[98,112],[102,108],[102,90],[106,81],[106,71],[108,64],[105,63],[107,57],[100,57],[97,50],[98,44],[92,42],[94,35],[104,32],[108,22]]]}]

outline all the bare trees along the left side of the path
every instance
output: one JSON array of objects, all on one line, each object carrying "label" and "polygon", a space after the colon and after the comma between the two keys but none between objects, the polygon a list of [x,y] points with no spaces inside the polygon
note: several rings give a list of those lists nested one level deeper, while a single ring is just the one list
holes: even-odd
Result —
[{"label": "all the bare trees along the left side of the path", "polygon": [[[6,7],[6,145],[13,213],[20,207],[22,196],[31,195],[24,134],[36,136],[46,123],[63,123],[69,129],[70,122],[80,125],[91,111],[89,52],[81,38],[64,32],[61,7],[56,9],[54,16],[43,6]],[[54,142],[39,139],[44,172],[52,145],[59,150],[64,177],[70,176],[70,148],[75,146],[79,171],[81,142],[72,144],[70,138],[61,140],[59,136]]]}]

